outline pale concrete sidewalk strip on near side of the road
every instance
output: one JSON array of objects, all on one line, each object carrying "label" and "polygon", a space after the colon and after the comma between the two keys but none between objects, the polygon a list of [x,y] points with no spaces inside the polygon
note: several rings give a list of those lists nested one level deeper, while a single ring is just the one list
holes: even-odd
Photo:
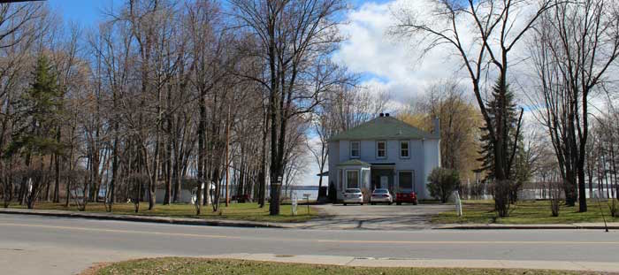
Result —
[{"label": "pale concrete sidewalk strip on near side of the road", "polygon": [[333,264],[363,267],[496,268],[557,271],[619,272],[619,263],[577,261],[434,260],[414,258],[373,258],[353,256],[290,256],[273,254],[229,254],[207,258],[240,259],[294,264]]}]

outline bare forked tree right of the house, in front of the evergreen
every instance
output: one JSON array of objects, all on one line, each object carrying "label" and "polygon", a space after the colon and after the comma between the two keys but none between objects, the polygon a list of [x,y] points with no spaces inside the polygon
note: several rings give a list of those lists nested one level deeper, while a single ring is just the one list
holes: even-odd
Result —
[{"label": "bare forked tree right of the house, in front of the evergreen", "polygon": [[[392,34],[418,39],[424,45],[424,52],[446,45],[460,59],[462,68],[469,74],[473,93],[485,120],[488,139],[493,145],[493,174],[497,182],[510,180],[510,156],[513,152],[508,148],[516,148],[508,146],[512,142],[507,127],[509,118],[506,99],[508,69],[514,61],[511,53],[553,5],[553,0],[432,0],[431,15],[428,18],[422,18],[416,10],[408,8],[395,13],[398,23]],[[465,27],[466,24],[472,27]],[[493,107],[488,106],[489,99],[485,98],[485,87],[493,81],[485,81],[487,77],[496,77],[499,83],[496,88],[497,110],[493,115],[489,110]],[[517,142],[517,134],[513,140]],[[501,216],[508,214],[504,210],[505,201],[495,200],[495,208]]]}]

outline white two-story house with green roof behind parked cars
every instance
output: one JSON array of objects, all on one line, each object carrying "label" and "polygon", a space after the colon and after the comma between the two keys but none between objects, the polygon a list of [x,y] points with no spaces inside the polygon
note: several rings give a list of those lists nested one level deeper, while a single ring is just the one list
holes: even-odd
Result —
[{"label": "white two-story house with green roof behind parked cars", "polygon": [[380,114],[360,126],[335,134],[329,140],[329,181],[338,200],[346,188],[370,193],[388,188],[392,194],[414,191],[429,199],[427,178],[440,166],[440,123],[432,133]]}]

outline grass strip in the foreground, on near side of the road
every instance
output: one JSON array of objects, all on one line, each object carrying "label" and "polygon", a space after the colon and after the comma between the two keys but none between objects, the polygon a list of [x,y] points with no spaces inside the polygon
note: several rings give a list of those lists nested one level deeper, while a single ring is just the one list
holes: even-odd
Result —
[{"label": "grass strip in the foreground, on near side of the road", "polygon": [[[241,260],[212,260],[199,258],[142,259],[104,266],[85,274],[252,274],[252,275],[443,275],[443,274],[584,274],[568,271],[509,270],[509,269],[438,269],[350,267],[315,264],[280,264]],[[593,273],[585,273],[593,274]]]}]

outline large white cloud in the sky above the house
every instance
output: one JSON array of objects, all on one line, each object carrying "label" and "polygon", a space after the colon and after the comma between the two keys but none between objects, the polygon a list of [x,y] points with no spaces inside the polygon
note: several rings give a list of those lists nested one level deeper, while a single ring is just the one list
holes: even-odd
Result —
[{"label": "large white cloud in the sky above the house", "polygon": [[369,74],[362,85],[389,92],[395,102],[408,103],[422,95],[435,80],[453,78],[459,71],[457,60],[447,50],[432,50],[420,59],[410,42],[389,37],[394,26],[394,6],[422,6],[423,1],[394,1],[385,4],[365,3],[348,13],[348,24],[340,27],[347,35],[334,60],[355,73]]}]

